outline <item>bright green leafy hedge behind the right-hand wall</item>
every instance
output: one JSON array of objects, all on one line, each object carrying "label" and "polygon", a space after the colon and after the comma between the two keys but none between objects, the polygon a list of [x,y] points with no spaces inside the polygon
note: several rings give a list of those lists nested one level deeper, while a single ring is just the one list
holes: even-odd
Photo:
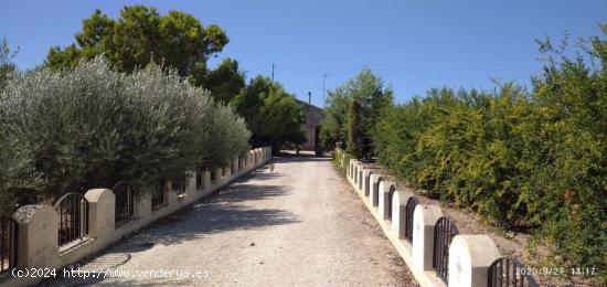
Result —
[{"label": "bright green leafy hedge behind the right-hand wall", "polygon": [[487,221],[531,228],[556,264],[605,278],[607,44],[592,44],[587,57],[549,62],[531,93],[432,89],[386,108],[373,135],[379,161]]}]

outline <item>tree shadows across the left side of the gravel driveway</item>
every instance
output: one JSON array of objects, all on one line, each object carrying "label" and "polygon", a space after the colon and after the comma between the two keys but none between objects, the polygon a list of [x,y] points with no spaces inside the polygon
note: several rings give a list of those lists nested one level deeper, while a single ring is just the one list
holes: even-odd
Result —
[{"label": "tree shadows across the left side of the gravel driveway", "polygon": [[[266,177],[266,178],[263,178]],[[273,225],[300,222],[299,216],[278,209],[255,209],[245,202],[286,195],[285,187],[259,185],[247,181],[280,177],[275,173],[263,173],[256,170],[233,182],[212,195],[209,195],[190,206],[160,219],[152,224],[127,235],[114,246],[92,258],[83,259],[72,266],[88,270],[107,270],[124,265],[131,254],[145,252],[157,244],[177,245],[188,241],[204,238],[205,235],[236,230],[263,228]],[[57,270],[57,278],[43,281],[40,286],[84,286],[105,285],[104,278],[61,278],[63,270]],[[158,280],[146,284],[159,284]],[[128,283],[126,283],[128,284]],[[138,284],[141,284],[140,281]],[[120,284],[123,285],[123,284]]]}]

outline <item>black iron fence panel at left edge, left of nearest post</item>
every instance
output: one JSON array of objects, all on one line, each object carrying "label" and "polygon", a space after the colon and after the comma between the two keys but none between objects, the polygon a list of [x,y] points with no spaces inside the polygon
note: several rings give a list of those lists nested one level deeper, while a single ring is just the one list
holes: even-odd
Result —
[{"label": "black iron fence panel at left edge, left of nearest post", "polygon": [[0,273],[17,265],[18,225],[11,216],[0,215]]}]

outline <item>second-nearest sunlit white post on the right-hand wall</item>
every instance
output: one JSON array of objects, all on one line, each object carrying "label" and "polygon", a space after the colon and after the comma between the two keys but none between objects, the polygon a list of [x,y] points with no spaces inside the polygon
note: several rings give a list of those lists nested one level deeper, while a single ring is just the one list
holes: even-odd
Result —
[{"label": "second-nearest sunlit white post on the right-hand wall", "polygon": [[419,270],[432,270],[434,225],[443,216],[438,205],[417,204],[413,212],[413,265]]}]

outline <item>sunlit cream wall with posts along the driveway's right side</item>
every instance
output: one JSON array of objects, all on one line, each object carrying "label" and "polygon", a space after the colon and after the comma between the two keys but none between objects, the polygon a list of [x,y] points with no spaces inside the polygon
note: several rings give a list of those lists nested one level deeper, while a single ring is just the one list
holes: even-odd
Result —
[{"label": "sunlit cream wall with posts along the driveway's right side", "polygon": [[[343,151],[336,150],[338,162],[343,162],[344,158]],[[412,204],[412,219],[407,219],[407,203],[415,198],[413,192],[396,189],[394,182],[385,180],[385,174],[376,169],[371,171],[355,159],[342,167],[347,169],[348,181],[422,286],[488,286],[488,268],[501,256],[489,236],[455,235],[448,247],[441,251],[448,255],[448,262],[444,263],[448,276],[446,279],[440,278],[435,266],[436,224],[445,215],[440,206]],[[411,240],[406,236],[407,221],[412,228]]]}]

